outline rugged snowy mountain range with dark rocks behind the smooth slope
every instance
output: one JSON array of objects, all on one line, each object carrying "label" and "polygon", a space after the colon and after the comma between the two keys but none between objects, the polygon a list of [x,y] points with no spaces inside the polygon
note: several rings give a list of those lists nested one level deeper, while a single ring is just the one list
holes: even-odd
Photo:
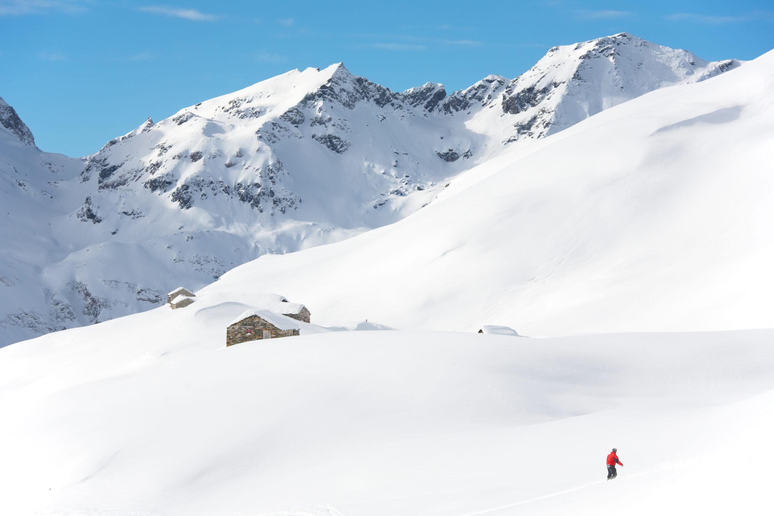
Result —
[{"label": "rugged snowy mountain range with dark rocks behind the smooth slope", "polygon": [[146,121],[82,160],[39,152],[2,103],[0,345],[149,309],[260,255],[392,224],[478,163],[738,64],[622,33],[447,95],[432,83],[393,92],[339,63]]}]

